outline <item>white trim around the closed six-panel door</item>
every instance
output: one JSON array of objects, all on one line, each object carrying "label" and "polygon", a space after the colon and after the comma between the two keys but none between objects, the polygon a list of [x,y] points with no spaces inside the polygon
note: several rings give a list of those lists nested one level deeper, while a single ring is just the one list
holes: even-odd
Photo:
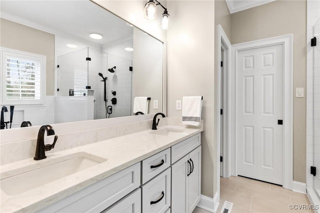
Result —
[{"label": "white trim around the closed six-panel door", "polygon": [[229,155],[229,159],[232,164],[232,175],[237,175],[237,166],[236,166],[236,103],[237,103],[237,92],[236,92],[236,82],[237,82],[237,55],[241,50],[251,49],[255,47],[263,47],[269,45],[283,44],[283,187],[292,190],[292,153],[293,153],[293,145],[292,145],[292,108],[293,108],[293,34],[281,35],[276,37],[270,37],[260,40],[254,40],[244,43],[238,43],[232,45],[232,72],[231,79],[233,82],[233,87],[229,95],[232,97],[232,116],[231,123],[233,124],[234,131],[229,131],[230,138],[232,139],[232,154]]}]

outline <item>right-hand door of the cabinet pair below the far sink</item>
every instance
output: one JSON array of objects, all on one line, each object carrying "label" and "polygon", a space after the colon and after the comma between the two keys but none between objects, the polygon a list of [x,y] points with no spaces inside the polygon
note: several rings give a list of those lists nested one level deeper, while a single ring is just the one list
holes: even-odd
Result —
[{"label": "right-hand door of the cabinet pair below the far sink", "polygon": [[192,165],[191,173],[188,176],[188,212],[192,212],[198,204],[201,195],[201,146],[191,151],[188,159]]}]

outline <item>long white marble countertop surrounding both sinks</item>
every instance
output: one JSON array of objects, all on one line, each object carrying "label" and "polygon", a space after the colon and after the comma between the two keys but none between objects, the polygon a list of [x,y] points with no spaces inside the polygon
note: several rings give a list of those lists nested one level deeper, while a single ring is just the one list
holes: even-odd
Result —
[{"label": "long white marble countertop surrounding both sinks", "polygon": [[159,130],[164,128],[179,128],[183,131],[162,135],[150,133],[156,130],[149,129],[62,151],[47,151],[47,158],[38,161],[29,158],[1,165],[2,179],[3,175],[21,173],[21,167],[38,167],[39,163],[45,166],[48,160],[52,161],[76,152],[86,152],[106,159],[102,163],[16,195],[9,196],[1,190],[0,211],[34,212],[203,131],[202,125],[197,128],[182,125],[158,127]]}]

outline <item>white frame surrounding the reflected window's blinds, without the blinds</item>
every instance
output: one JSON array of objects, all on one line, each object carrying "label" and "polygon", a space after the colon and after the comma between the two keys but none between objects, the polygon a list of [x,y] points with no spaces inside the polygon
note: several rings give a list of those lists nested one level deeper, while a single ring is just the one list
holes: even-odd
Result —
[{"label": "white frame surrounding the reflected window's blinds, without the blinds", "polygon": [[[40,98],[39,99],[6,99],[6,57],[13,56],[17,58],[25,58],[39,61],[40,63]],[[43,105],[45,103],[45,88],[46,88],[46,56],[31,52],[0,47],[0,105],[15,104],[15,105]]]}]

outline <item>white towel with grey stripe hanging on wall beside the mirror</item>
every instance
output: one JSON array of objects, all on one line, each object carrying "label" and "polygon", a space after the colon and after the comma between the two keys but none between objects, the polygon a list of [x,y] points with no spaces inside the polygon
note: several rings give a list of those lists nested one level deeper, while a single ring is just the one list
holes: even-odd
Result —
[{"label": "white towel with grey stripe hanging on wall beside the mirror", "polygon": [[182,97],[182,124],[198,126],[201,120],[202,96]]}]

